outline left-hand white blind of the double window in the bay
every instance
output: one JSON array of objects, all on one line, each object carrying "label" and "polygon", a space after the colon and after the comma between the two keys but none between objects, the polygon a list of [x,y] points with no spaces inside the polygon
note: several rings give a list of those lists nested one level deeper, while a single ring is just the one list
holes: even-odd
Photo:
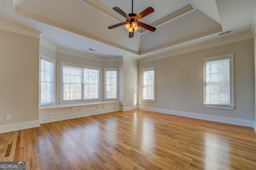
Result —
[{"label": "left-hand white blind of the double window in the bay", "polygon": [[63,101],[82,100],[82,67],[63,65]]}]

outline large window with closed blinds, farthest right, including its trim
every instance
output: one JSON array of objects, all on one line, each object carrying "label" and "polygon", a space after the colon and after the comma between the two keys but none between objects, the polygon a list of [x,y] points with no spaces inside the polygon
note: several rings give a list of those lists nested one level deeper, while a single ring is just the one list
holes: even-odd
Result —
[{"label": "large window with closed blinds, farthest right, including its trim", "polygon": [[204,58],[204,107],[234,109],[233,54]]}]

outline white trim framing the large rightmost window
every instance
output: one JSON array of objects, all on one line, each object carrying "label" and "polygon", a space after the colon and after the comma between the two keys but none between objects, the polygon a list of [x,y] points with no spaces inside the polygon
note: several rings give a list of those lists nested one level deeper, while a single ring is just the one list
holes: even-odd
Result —
[{"label": "white trim framing the large rightmost window", "polygon": [[[222,59],[229,59],[229,72],[230,72],[230,105],[214,105],[206,103],[206,62],[216,61]],[[204,107],[219,108],[219,109],[234,109],[234,66],[233,66],[233,53],[207,57],[203,59],[204,68]]]}]

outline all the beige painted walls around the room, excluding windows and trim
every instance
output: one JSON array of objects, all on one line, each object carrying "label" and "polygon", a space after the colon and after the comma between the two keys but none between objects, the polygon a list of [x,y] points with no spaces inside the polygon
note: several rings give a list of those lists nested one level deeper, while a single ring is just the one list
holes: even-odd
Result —
[{"label": "all the beige painted walls around the room, excluding windows and trim", "polygon": [[[212,47],[191,53],[136,64],[122,60],[104,62],[55,52],[40,45],[39,39],[0,30],[0,125],[38,120],[39,53],[56,59],[56,102],[60,102],[60,61],[101,68],[119,68],[121,108],[138,106],[255,120],[253,39]],[[255,38],[255,37],[254,37]],[[253,45],[254,44],[254,45]],[[203,61],[234,53],[235,110],[203,107]],[[156,103],[142,102],[142,68],[156,67]],[[138,83],[137,83],[138,82]],[[174,104],[173,109],[171,105]],[[6,115],[12,119],[6,121]]]}]

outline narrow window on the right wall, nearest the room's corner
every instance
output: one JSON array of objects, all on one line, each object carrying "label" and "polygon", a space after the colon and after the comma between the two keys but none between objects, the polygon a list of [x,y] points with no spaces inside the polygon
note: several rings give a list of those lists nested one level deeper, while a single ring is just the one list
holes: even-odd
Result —
[{"label": "narrow window on the right wall, nearest the room's corner", "polygon": [[145,102],[155,102],[155,67],[145,68],[143,72],[143,96]]}]

